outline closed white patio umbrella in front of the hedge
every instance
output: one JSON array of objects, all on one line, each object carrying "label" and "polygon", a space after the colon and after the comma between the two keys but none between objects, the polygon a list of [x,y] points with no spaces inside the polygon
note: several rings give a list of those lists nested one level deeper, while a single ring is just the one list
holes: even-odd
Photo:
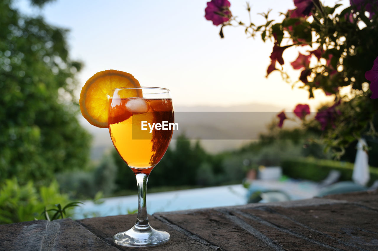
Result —
[{"label": "closed white patio umbrella in front of the hedge", "polygon": [[366,185],[370,179],[369,156],[367,155],[367,144],[365,139],[359,139],[357,143],[357,153],[353,168],[352,179],[356,184]]}]

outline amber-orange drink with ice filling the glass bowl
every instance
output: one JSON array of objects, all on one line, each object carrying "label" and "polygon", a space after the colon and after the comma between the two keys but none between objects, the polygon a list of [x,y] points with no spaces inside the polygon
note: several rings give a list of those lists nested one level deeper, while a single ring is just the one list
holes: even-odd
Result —
[{"label": "amber-orange drink with ice filling the glass bowl", "polygon": [[[136,99],[138,106],[128,106],[130,100]],[[143,101],[145,103],[143,103]],[[139,102],[139,103],[138,103]],[[173,127],[170,130],[156,130],[150,133],[147,125],[141,130],[142,121],[162,124],[163,121],[174,123],[174,112],[171,99],[122,98],[110,99],[108,116],[109,132],[114,147],[121,158],[134,173],[149,173],[163,158]],[[146,123],[145,123],[146,124]]]}]

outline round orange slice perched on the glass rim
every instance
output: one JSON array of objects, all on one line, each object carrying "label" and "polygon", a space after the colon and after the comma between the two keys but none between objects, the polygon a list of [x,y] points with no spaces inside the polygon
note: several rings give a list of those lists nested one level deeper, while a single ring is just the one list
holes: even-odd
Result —
[{"label": "round orange slice perched on the glass rim", "polygon": [[[113,89],[139,87],[133,75],[119,70],[104,70],[88,79],[80,93],[80,110],[85,119],[93,126],[108,127],[109,98]],[[139,97],[140,90],[124,90],[122,98]]]}]

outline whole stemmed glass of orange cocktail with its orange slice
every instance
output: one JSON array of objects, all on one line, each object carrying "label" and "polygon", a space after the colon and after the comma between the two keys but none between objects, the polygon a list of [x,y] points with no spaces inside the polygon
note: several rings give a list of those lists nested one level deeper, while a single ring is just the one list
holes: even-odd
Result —
[{"label": "whole stemmed glass of orange cocktail with its orange slice", "polygon": [[[169,233],[152,228],[146,209],[147,180],[163,158],[174,124],[170,91],[141,87],[133,75],[104,70],[82,87],[80,110],[92,125],[108,128],[121,158],[135,173],[138,186],[138,215],[135,225],[113,236],[115,243],[130,247],[156,246],[167,242]],[[178,125],[177,125],[178,129]]]}]

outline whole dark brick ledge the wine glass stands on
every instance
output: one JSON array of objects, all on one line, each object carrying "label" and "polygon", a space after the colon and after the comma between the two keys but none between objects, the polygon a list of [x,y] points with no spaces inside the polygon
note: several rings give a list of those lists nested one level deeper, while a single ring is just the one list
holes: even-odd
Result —
[{"label": "whole dark brick ledge the wine glass stands on", "polygon": [[378,250],[377,191],[284,203],[155,213],[171,239],[125,248],[112,236],[135,215],[0,225],[0,250]]}]

